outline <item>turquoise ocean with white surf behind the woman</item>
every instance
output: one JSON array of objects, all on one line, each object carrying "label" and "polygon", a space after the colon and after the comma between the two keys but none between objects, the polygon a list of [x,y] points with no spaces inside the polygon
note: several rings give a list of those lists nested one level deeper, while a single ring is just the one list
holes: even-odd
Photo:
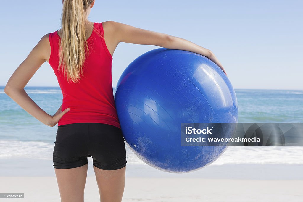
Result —
[{"label": "turquoise ocean with white surf behind the woman", "polygon": [[[62,104],[60,87],[25,87],[48,114]],[[303,123],[303,91],[235,90],[239,123]],[[4,93],[0,86],[0,160],[34,158],[52,160],[57,125],[36,120]],[[128,164],[145,164],[126,147]],[[303,147],[228,147],[213,163],[303,164]]]}]

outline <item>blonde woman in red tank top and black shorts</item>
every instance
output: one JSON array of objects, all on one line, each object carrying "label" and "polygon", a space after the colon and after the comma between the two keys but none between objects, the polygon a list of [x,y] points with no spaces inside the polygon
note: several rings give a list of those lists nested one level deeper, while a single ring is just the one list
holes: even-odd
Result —
[{"label": "blonde woman in red tank top and black shorts", "polygon": [[[224,71],[210,50],[185,39],[113,21],[89,22],[94,3],[64,0],[62,29],[44,35],[5,86],[5,93],[29,114],[48,126],[58,124],[53,166],[62,202],[84,200],[87,157],[93,158],[101,201],[122,200],[126,154],[111,75],[112,55],[119,42],[195,52]],[[54,115],[43,111],[24,90],[45,61],[63,94]]]}]

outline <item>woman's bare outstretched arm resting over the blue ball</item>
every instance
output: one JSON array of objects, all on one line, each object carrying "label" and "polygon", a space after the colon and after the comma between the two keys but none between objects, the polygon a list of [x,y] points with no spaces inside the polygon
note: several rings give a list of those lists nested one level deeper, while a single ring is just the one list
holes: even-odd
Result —
[{"label": "woman's bare outstretched arm resting over the blue ball", "polygon": [[226,74],[223,66],[221,65],[215,54],[207,48],[203,48],[191,41],[183,38],[163,34],[155,31],[136,28],[123,23],[108,21],[112,25],[113,38],[119,42],[142,44],[142,45],[156,45],[163,48],[179,49],[198,53],[203,55],[213,62],[215,62]]}]

